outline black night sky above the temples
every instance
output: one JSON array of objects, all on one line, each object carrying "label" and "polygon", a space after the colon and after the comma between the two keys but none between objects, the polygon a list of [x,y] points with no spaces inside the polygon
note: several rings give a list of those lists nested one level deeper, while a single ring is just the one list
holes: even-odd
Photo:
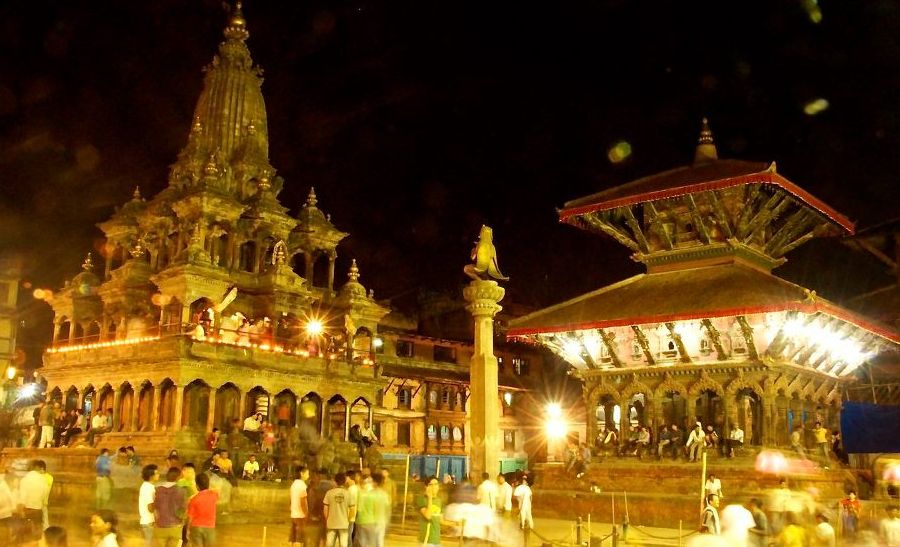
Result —
[{"label": "black night sky above the temples", "polygon": [[[688,163],[704,115],[720,157],[776,160],[858,227],[897,216],[895,2],[251,0],[244,13],[280,199],[296,213],[315,186],[351,233],[338,282],[355,257],[379,298],[459,294],[482,223],[511,301],[639,272],[555,208]],[[225,20],[212,0],[0,8],[0,248],[25,254],[26,282],[58,288],[136,185],[164,188]],[[817,99],[828,108],[806,113]],[[622,141],[632,153],[613,162]],[[780,275],[835,299],[885,280],[836,241],[789,259]]]}]

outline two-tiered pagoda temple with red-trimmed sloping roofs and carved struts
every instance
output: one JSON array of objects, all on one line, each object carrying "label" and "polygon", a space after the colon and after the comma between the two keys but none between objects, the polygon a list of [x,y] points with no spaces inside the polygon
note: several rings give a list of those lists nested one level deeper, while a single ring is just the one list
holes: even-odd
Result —
[{"label": "two-tiered pagoda temple with red-trimmed sloping roofs and carved struts", "polygon": [[772,274],[791,250],[853,224],[774,163],[719,159],[706,120],[690,166],[570,201],[560,219],[614,238],[647,270],[508,332],[571,364],[591,441],[606,428],[697,419],[788,445],[797,423],[837,428],[842,384],[900,343],[891,327]]}]

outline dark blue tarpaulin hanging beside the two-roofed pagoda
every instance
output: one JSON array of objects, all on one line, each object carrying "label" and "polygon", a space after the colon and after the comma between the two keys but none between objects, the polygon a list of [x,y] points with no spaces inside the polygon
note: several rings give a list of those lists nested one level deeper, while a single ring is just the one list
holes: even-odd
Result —
[{"label": "dark blue tarpaulin hanging beside the two-roofed pagoda", "polygon": [[900,406],[845,402],[841,437],[849,454],[900,452]]}]

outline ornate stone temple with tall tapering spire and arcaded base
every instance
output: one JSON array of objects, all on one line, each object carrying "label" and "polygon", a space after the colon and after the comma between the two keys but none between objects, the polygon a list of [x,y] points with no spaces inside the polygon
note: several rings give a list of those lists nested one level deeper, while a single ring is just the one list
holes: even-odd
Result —
[{"label": "ornate stone temple with tall tapering spire and arcaded base", "polygon": [[296,218],[278,200],[248,36],[238,4],[168,186],[150,199],[135,190],[100,224],[103,257],[88,255],[50,300],[48,392],[67,408],[112,409],[113,438],[197,447],[257,409],[346,438],[351,421],[371,421],[385,383],[370,352],[389,309],[355,261],[334,287],[347,234],[313,190]]}]

